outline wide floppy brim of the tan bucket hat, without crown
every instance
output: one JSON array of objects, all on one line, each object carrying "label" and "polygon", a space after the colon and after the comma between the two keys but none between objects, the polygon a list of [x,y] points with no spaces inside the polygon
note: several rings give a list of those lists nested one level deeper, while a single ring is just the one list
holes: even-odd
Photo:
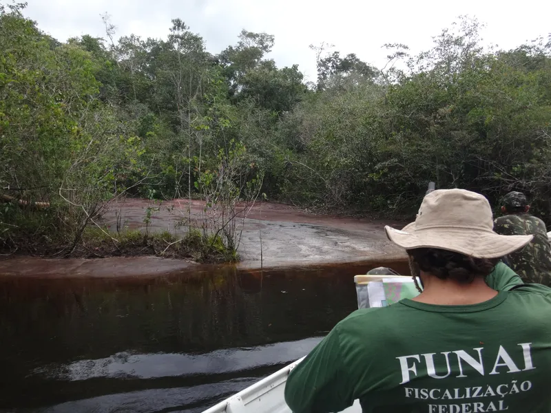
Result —
[{"label": "wide floppy brim of the tan bucket hat, without crown", "polygon": [[522,248],[533,235],[499,235],[492,231],[459,228],[428,228],[418,230],[415,222],[394,229],[385,226],[388,240],[402,248],[440,248],[476,258],[499,258]]}]

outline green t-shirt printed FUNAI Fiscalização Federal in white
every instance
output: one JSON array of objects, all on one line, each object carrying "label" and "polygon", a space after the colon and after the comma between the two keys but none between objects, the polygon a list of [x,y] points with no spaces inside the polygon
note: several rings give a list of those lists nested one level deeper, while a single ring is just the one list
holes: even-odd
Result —
[{"label": "green t-shirt printed FUNAI Fiscaliza\u00e7\u00e3o Federal in white", "polygon": [[487,282],[500,292],[480,304],[404,299],[355,311],[293,369],[287,404],[295,413],[340,412],[355,399],[364,413],[551,412],[551,288],[496,269]]}]

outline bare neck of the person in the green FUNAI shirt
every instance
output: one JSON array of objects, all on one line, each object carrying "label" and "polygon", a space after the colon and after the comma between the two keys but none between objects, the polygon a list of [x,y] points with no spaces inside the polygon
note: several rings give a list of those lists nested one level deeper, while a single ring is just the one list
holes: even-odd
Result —
[{"label": "bare neck of the person in the green FUNAI shirt", "polygon": [[475,277],[469,284],[461,284],[450,279],[439,279],[432,275],[422,275],[423,292],[413,301],[438,306],[468,306],[488,301],[497,291],[488,287],[483,277]]}]

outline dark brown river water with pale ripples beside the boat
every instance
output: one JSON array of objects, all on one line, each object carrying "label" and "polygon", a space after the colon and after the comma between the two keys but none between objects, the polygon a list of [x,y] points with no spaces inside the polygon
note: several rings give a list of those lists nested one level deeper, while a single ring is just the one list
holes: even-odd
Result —
[{"label": "dark brown river water with pale ripples beside the boat", "polygon": [[309,352],[373,266],[0,278],[0,410],[201,412]]}]

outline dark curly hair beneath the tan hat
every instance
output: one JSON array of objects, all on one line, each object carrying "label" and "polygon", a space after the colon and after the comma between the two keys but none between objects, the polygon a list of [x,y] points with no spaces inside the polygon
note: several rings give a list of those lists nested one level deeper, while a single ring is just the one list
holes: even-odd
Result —
[{"label": "dark curly hair beneath the tan hat", "polygon": [[414,248],[407,253],[424,273],[464,284],[472,282],[475,277],[486,277],[499,261],[470,257],[439,248]]}]

